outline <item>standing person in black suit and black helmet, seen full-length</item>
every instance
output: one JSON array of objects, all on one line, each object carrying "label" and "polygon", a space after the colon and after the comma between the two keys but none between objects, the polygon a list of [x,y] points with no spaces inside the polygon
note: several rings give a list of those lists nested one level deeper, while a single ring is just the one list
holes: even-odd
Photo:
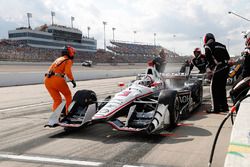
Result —
[{"label": "standing person in black suit and black helmet, seen full-length", "polygon": [[208,113],[228,111],[226,83],[229,73],[228,60],[230,56],[226,46],[216,42],[211,33],[204,37],[205,56],[208,61],[207,71],[213,72],[210,90],[212,94],[212,108]]}]

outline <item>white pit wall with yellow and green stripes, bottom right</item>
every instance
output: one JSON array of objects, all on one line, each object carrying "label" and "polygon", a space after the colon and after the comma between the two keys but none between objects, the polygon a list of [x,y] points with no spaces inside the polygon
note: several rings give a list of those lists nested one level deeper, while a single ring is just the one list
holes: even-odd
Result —
[{"label": "white pit wall with yellow and green stripes, bottom right", "polygon": [[224,167],[250,167],[250,98],[241,102]]}]

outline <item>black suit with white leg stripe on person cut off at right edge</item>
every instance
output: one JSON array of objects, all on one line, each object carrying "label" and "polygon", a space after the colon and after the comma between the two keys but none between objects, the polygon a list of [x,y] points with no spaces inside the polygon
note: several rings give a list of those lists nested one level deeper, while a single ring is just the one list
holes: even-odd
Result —
[{"label": "black suit with white leg stripe on person cut off at right edge", "polygon": [[245,96],[250,88],[250,46],[246,47],[244,52],[244,62],[241,74],[241,81],[238,82],[230,91],[230,96],[234,103]]}]

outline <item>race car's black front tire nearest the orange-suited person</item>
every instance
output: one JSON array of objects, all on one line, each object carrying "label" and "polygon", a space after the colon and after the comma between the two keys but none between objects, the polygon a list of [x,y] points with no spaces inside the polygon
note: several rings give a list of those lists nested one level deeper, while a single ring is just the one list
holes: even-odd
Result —
[{"label": "race car's black front tire nearest the orange-suited person", "polygon": [[73,101],[84,107],[93,103],[97,104],[97,96],[92,90],[78,90],[73,96]]}]

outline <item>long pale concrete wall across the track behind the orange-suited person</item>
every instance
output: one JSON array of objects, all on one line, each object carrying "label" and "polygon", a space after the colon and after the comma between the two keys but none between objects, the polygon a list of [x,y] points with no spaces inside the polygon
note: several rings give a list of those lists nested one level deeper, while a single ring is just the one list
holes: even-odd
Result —
[{"label": "long pale concrete wall across the track behind the orange-suited person", "polygon": [[[0,61],[0,68],[1,65],[11,65],[10,69],[12,69],[13,65],[17,67],[20,65],[21,67],[24,66],[32,66],[32,68],[36,68],[38,66],[39,71],[34,72],[24,72],[21,70],[20,72],[16,68],[13,70],[9,70],[10,72],[4,72],[6,69],[0,72],[0,87],[5,86],[20,86],[20,85],[29,85],[29,84],[41,84],[43,83],[44,73],[47,71],[47,67],[50,65],[49,62],[1,62]],[[46,66],[46,68],[41,68],[39,66]],[[75,63],[74,66],[81,66],[79,63]],[[103,79],[103,78],[115,78],[115,77],[126,77],[126,76],[136,76],[138,73],[144,73],[146,69],[146,64],[144,63],[136,63],[134,65],[129,66],[127,63],[120,63],[119,65],[112,67],[110,69],[104,68],[105,70],[100,70],[102,66],[110,66],[110,64],[99,63],[97,68],[89,68],[88,70],[82,70],[78,68],[77,70],[73,71],[75,80],[77,81],[84,81],[84,80],[91,80],[91,79]],[[122,67],[123,66],[123,67]],[[128,66],[129,68],[124,68]],[[141,66],[138,68],[138,66]],[[180,64],[168,64],[167,70],[168,72],[176,72],[179,69]],[[121,68],[122,67],[122,68]],[[134,67],[134,68],[133,68]],[[144,68],[145,67],[145,68]],[[31,69],[32,69],[31,68]],[[23,69],[23,68],[20,68]],[[30,68],[29,68],[30,69]],[[99,69],[99,70],[98,70]],[[8,71],[8,70],[7,70]],[[12,71],[12,72],[11,72]]]}]

